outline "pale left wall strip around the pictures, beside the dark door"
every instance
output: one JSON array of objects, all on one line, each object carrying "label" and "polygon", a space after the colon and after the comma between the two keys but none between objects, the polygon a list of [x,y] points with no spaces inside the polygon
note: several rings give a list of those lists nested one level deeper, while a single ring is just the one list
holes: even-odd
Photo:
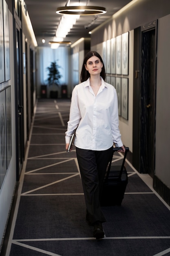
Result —
[{"label": "pale left wall strip around the pictures, beside the dark door", "polygon": [[0,189],[0,241],[4,234],[13,191],[16,183],[16,155],[15,155],[15,88],[14,88],[14,60],[13,60],[13,17],[9,11],[9,45],[10,45],[10,77],[11,79],[1,86],[11,85],[11,117],[12,117],[12,158]]}]

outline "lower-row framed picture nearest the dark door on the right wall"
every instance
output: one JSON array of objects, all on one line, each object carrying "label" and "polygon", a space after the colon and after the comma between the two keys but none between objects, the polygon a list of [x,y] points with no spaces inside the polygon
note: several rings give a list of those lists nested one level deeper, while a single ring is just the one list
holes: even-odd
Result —
[{"label": "lower-row framed picture nearest the dark door on the right wall", "polygon": [[121,116],[128,120],[128,78],[121,78]]}]

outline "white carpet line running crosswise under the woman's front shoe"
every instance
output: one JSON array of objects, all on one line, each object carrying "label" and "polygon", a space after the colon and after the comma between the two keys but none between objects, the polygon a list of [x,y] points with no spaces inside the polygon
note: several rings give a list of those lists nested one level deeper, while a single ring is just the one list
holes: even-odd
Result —
[{"label": "white carpet line running crosswise under the woman's front shoe", "polygon": [[[13,239],[12,242],[41,242],[41,241],[66,241],[66,240],[90,240],[94,237],[70,237],[70,238],[37,238],[37,239]],[[170,236],[108,236],[102,239],[124,240],[124,239],[170,239]]]}]

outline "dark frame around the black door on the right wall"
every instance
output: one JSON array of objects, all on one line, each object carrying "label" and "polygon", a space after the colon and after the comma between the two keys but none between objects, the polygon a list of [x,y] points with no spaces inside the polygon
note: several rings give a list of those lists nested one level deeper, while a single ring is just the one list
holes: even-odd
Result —
[{"label": "dark frame around the black door on the right wall", "polygon": [[[156,65],[157,65],[157,21],[150,22],[142,27],[134,29],[134,79],[133,79],[133,142],[132,165],[139,173],[147,173],[141,169],[140,129],[141,129],[141,38],[144,31],[155,29],[155,116],[156,116]],[[155,132],[155,131],[154,131]],[[155,150],[155,148],[154,148]],[[154,152],[155,172],[155,152]],[[151,176],[153,176],[153,173]]]}]

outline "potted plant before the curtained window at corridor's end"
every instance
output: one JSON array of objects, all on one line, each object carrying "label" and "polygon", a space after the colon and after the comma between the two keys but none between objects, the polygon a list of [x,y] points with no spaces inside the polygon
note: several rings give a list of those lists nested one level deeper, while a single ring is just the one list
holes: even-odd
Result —
[{"label": "potted plant before the curtained window at corridor's end", "polygon": [[53,99],[57,99],[58,97],[58,91],[55,88],[60,86],[59,81],[62,77],[59,68],[60,66],[57,64],[57,61],[51,62],[51,65],[47,67],[47,70],[49,71],[47,82],[49,86],[52,86],[52,90],[50,91],[50,97]]}]

